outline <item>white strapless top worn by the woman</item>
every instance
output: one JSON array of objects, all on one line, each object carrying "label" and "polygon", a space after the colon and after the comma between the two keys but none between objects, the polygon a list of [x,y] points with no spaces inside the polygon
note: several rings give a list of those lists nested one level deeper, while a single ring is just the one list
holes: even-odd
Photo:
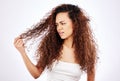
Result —
[{"label": "white strapless top worn by the woman", "polygon": [[79,81],[81,74],[79,64],[55,61],[48,72],[47,81]]}]

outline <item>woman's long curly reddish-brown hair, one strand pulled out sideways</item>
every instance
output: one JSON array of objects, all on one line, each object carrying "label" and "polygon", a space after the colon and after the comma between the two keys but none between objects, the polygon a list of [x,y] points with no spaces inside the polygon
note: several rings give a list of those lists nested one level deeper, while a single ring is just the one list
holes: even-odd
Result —
[{"label": "woman's long curly reddish-brown hair, one strand pulled out sideways", "polygon": [[28,41],[32,38],[42,37],[36,50],[38,57],[36,66],[43,70],[45,67],[50,68],[52,63],[59,59],[64,41],[60,38],[55,24],[56,15],[61,12],[68,12],[69,18],[73,22],[73,45],[76,61],[83,71],[92,73],[97,57],[96,43],[89,26],[89,18],[76,5],[61,4],[53,8],[38,24],[22,33],[21,38]]}]

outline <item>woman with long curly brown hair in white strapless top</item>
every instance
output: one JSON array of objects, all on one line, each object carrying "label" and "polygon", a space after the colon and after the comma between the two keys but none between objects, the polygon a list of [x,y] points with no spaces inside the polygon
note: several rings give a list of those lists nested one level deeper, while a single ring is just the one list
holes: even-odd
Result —
[{"label": "woman with long curly brown hair in white strapless top", "polygon": [[[23,39],[38,37],[42,38],[34,65],[26,55]],[[82,71],[87,73],[87,81],[94,81],[96,44],[89,19],[76,5],[55,7],[47,18],[17,37],[14,45],[34,78],[48,68],[48,81],[79,81]]]}]

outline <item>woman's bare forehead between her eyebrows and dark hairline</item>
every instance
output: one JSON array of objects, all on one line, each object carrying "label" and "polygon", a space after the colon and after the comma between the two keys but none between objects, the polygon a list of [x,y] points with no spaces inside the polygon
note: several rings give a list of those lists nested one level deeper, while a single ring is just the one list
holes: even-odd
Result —
[{"label": "woman's bare forehead between her eyebrows and dark hairline", "polygon": [[71,21],[71,19],[68,16],[67,12],[60,12],[56,15],[56,23],[59,23],[60,21]]}]

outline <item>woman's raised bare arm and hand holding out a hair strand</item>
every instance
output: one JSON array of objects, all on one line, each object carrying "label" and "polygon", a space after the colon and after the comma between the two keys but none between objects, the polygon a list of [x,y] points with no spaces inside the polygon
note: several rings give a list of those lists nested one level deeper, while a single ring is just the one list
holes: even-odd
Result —
[{"label": "woman's raised bare arm and hand holding out a hair strand", "polygon": [[28,56],[26,55],[26,52],[25,52],[25,46],[24,46],[24,43],[23,43],[23,40],[20,39],[20,37],[17,37],[15,38],[14,40],[14,46],[16,47],[16,49],[20,52],[23,60],[24,60],[24,63],[28,69],[28,71],[30,72],[30,74],[36,79],[38,78],[41,73],[42,73],[42,70],[41,69],[38,69],[31,61],[30,59],[28,58]]}]

